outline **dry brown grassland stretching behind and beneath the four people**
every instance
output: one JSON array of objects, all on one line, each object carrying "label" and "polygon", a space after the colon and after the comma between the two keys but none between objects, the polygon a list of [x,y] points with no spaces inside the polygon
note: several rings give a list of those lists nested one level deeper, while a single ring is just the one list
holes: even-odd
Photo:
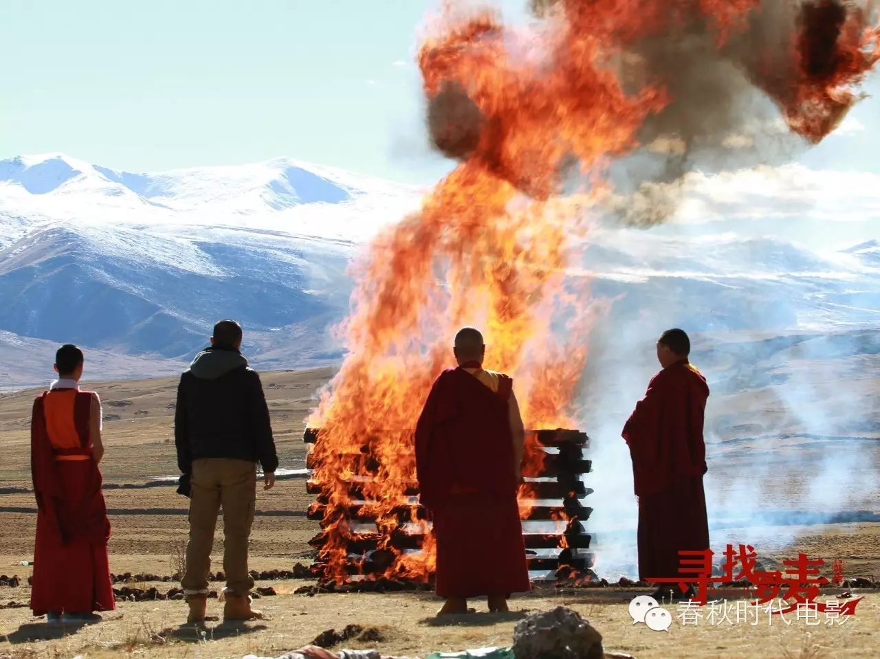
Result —
[{"label": "dry brown grassland stretching behind and beneath the four people", "polygon": [[[304,467],[304,417],[330,375],[330,370],[264,374],[282,467]],[[175,379],[164,378],[93,385],[104,402],[107,450],[102,467],[114,526],[111,568],[117,574],[172,574],[173,556],[186,536],[187,500],[175,494],[170,484],[156,482],[176,472],[172,442],[175,384]],[[29,597],[24,578],[30,568],[19,562],[33,556],[35,504],[30,492],[27,433],[32,399],[33,392],[0,396],[0,450],[4,454],[0,461],[0,574],[23,579],[18,588],[0,586],[0,604],[27,603]],[[736,460],[727,464],[731,470],[743,468]],[[874,465],[880,465],[880,460]],[[872,469],[876,467],[860,477],[876,478]],[[791,487],[781,487],[781,507],[790,491]],[[303,480],[281,480],[271,492],[260,492],[251,546],[253,569],[290,569],[297,560],[309,562],[306,543],[318,531],[318,524],[305,518],[310,502],[312,496],[305,493]],[[876,502],[876,497],[868,502],[875,511]],[[768,531],[772,535],[773,530]],[[806,527],[793,542],[774,547],[771,558],[778,560],[801,551],[825,560],[845,560],[847,575],[880,577],[880,524],[865,521]],[[215,559],[221,555],[222,536],[218,535]],[[221,568],[218,562],[215,569]],[[432,650],[510,644],[513,626],[524,611],[559,604],[571,606],[589,619],[603,634],[606,649],[639,659],[872,657],[880,643],[880,593],[870,590],[857,615],[840,626],[808,626],[803,620],[791,620],[789,625],[776,620],[773,626],[766,621],[756,626],[711,626],[707,622],[680,626],[676,622],[671,633],[655,633],[643,625],[634,626],[627,615],[634,589],[538,589],[514,599],[509,615],[476,615],[440,626],[431,619],[438,604],[429,593],[293,594],[308,583],[260,582],[277,592],[277,596],[263,597],[257,603],[267,612],[267,620],[235,627],[212,623],[203,636],[180,625],[185,604],[176,601],[122,602],[105,623],[79,629],[49,628],[33,619],[27,608],[2,609],[0,658],[275,656],[312,641],[327,629],[349,624],[374,627],[371,636],[381,641],[354,639],[345,644],[348,647],[424,656]],[[155,585],[167,590],[174,584]],[[828,597],[839,592],[829,590]],[[220,606],[212,600],[209,613],[219,613]]]}]

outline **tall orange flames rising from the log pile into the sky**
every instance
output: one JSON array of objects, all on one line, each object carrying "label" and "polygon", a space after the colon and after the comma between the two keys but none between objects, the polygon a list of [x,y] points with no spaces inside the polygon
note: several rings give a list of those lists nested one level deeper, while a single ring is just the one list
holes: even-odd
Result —
[{"label": "tall orange flames rising from the log pile into the sky", "polygon": [[[321,428],[310,465],[326,495],[326,579],[348,578],[346,511],[364,461],[374,478],[360,491],[380,534],[396,527],[393,509],[413,503],[411,432],[458,327],[484,330],[485,366],[515,378],[527,428],[576,427],[597,307],[565,277],[583,207],[561,185],[574,167],[592,191],[577,199],[598,195],[609,162],[639,149],[640,130],[675,103],[675,85],[649,75],[649,62],[633,88],[645,44],[694,30],[722,54],[747,42],[749,58],[730,56],[790,131],[816,143],[842,120],[878,57],[868,12],[837,0],[779,4],[792,32],[774,36],[763,58],[755,17],[778,8],[760,0],[535,2],[540,20],[517,29],[489,11],[448,6],[436,18],[418,62],[431,137],[459,164],[355,267],[341,327],[348,355],[309,420]],[[528,444],[527,460],[541,460]],[[431,550],[392,549],[386,576],[427,579]]]}]

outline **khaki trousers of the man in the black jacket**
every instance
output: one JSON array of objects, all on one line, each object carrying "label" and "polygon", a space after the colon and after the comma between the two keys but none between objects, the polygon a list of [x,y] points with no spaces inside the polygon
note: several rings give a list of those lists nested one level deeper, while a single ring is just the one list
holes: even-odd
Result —
[{"label": "khaki trousers of the man in the black jacket", "polygon": [[194,460],[189,501],[187,571],[180,582],[187,595],[208,592],[211,549],[217,514],[223,507],[226,591],[247,595],[253,579],[247,569],[247,543],[257,498],[257,467],[247,460]]}]

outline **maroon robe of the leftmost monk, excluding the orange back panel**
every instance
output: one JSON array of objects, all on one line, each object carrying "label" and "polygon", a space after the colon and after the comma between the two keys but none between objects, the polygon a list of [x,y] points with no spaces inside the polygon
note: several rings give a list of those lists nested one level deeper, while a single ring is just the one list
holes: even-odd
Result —
[{"label": "maroon robe of the leftmost monk, excluding the orange back panel", "polygon": [[34,401],[31,419],[37,500],[31,609],[34,615],[112,611],[116,604],[107,560],[110,522],[89,445],[92,394],[77,393],[74,424],[79,446],[62,450],[55,448],[47,431],[44,397],[51,395],[44,393]]}]

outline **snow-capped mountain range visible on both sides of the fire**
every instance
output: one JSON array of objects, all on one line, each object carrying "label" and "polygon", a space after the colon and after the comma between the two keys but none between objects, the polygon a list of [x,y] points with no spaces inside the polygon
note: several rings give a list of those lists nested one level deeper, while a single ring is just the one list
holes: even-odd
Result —
[{"label": "snow-capped mountain range visible on both sides of the fire", "polygon": [[[571,275],[615,300],[611,326],[781,332],[876,322],[880,247],[863,242],[876,235],[873,214],[854,246],[807,246],[781,238],[797,224],[768,210],[791,201],[778,186],[747,201],[777,222],[768,236],[763,216],[746,216],[730,196],[712,206],[718,179],[700,185],[705,223],[642,231],[598,222],[590,231]],[[420,194],[290,158],[158,173],[62,154],[0,160],[0,362],[15,365],[0,366],[10,375],[0,386],[45,379],[44,364],[29,370],[21,355],[59,341],[125,355],[132,376],[166,373],[221,317],[243,322],[260,368],[333,362],[341,354],[328,329],[348,310],[348,262]],[[108,360],[96,376],[121,374]]]}]

